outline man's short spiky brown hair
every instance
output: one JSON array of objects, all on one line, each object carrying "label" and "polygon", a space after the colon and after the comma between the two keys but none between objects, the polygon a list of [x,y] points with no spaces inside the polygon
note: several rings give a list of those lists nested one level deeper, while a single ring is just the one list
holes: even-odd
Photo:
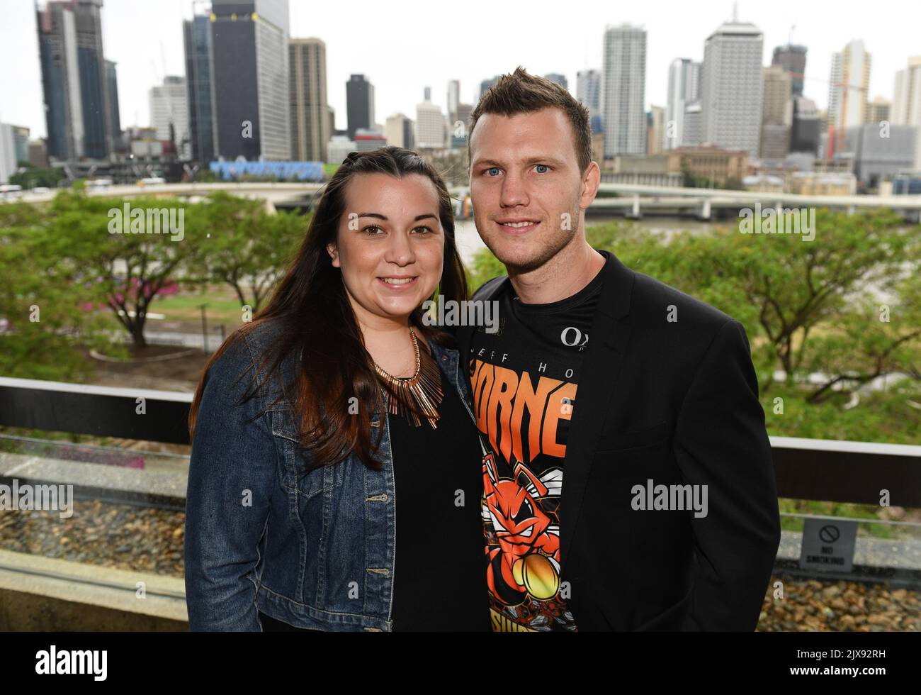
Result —
[{"label": "man's short spiky brown hair", "polygon": [[545,77],[529,75],[520,65],[511,75],[499,77],[470,114],[467,130],[467,160],[472,161],[470,135],[473,133],[476,122],[484,113],[513,116],[518,113],[537,112],[553,106],[563,109],[569,123],[573,126],[579,173],[585,173],[591,163],[589,110],[573,99],[573,96],[564,87]]}]

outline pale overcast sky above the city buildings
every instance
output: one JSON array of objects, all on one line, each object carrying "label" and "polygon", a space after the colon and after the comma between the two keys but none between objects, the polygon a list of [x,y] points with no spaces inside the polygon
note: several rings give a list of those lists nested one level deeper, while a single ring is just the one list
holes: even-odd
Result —
[{"label": "pale overcast sky above the city buildings", "polygon": [[[530,73],[563,73],[576,94],[578,70],[601,66],[606,25],[647,29],[646,102],[665,105],[669,64],[703,59],[706,37],[732,17],[732,3],[715,0],[291,0],[293,37],[326,43],[328,99],[336,127],[345,127],[345,82],[364,73],[374,84],[375,116],[415,117],[423,88],[446,108],[449,79],[461,80],[461,100],[472,102],[480,81],[523,65]],[[831,56],[863,39],[872,54],[870,96],[892,99],[895,71],[921,55],[919,0],[739,0],[739,18],[764,31],[764,65],[776,45],[809,48],[806,96],[828,102]],[[45,135],[41,70],[33,0],[0,0],[0,122]],[[184,75],[183,18],[192,0],[105,0],[106,58],[118,64],[122,128],[149,124],[147,93],[164,74]]]}]

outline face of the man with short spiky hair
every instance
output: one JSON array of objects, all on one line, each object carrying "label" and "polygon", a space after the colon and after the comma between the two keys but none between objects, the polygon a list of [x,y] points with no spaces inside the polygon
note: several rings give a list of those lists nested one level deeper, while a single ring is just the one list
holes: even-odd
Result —
[{"label": "face of the man with short spiky hair", "polygon": [[565,112],[484,113],[470,144],[476,230],[509,268],[540,267],[576,236],[586,199]]}]

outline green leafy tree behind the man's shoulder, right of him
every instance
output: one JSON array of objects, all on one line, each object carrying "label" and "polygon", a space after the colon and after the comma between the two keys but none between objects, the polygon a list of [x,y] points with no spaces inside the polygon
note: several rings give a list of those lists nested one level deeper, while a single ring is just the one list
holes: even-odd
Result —
[{"label": "green leafy tree behind the man's shoulder, right of him", "polygon": [[[916,314],[902,313],[899,332],[895,325],[876,330],[875,324],[869,331],[866,304],[874,301],[873,293],[893,292],[896,286],[904,304],[917,296],[914,286],[899,283],[918,274],[921,228],[905,229],[889,210],[848,216],[822,209],[815,211],[814,221],[812,241],[805,241],[802,233],[741,234],[739,227],[712,234],[679,233],[670,241],[610,230],[592,234],[610,241],[626,265],[738,319],[757,348],[753,356],[763,392],[778,366],[791,385],[802,371],[822,363],[821,351],[831,350],[834,341],[813,339],[817,331],[823,336],[851,331],[850,348],[838,350],[840,359],[824,360],[826,368],[834,367],[831,379],[843,381],[842,375],[854,369],[867,380],[877,369],[907,369],[904,359],[918,342],[909,328]],[[871,336],[878,334],[873,342]],[[853,342],[855,336],[861,341]],[[892,349],[887,351],[887,345]],[[870,366],[883,356],[878,367]]]}]

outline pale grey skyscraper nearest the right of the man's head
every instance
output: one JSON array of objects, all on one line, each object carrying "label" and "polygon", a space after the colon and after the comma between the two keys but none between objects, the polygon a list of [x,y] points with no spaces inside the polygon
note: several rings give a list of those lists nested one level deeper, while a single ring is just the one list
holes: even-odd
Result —
[{"label": "pale grey skyscraper nearest the right of the man's head", "polygon": [[604,157],[646,153],[646,29],[604,31],[601,102]]}]

